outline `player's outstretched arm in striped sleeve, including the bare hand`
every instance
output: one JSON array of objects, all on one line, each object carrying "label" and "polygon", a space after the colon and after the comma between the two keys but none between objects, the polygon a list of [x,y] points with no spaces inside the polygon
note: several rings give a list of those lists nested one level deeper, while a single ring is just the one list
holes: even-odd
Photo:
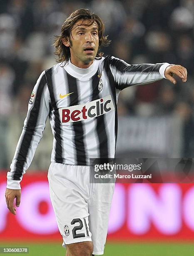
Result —
[{"label": "player's outstretched arm in striped sleeve, including the bare hand", "polygon": [[132,85],[149,84],[163,78],[176,84],[174,74],[180,77],[183,82],[187,81],[187,69],[181,65],[169,63],[130,65],[121,59],[111,57],[109,67],[119,90]]}]

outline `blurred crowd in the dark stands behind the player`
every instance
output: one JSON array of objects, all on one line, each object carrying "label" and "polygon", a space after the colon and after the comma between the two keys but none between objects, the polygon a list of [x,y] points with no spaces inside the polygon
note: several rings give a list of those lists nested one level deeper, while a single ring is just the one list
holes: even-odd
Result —
[{"label": "blurred crowd in the dark stands behind the player", "polygon": [[[112,40],[102,49],[104,56],[129,64],[168,62],[187,68],[186,83],[177,78],[174,86],[162,79],[122,91],[118,113],[124,122],[179,120],[171,130],[177,134],[173,140],[181,141],[179,156],[194,156],[193,0],[0,0],[0,169],[9,169],[37,78],[56,64],[53,37],[60,33],[65,17],[79,8],[102,17],[105,34]],[[123,126],[119,125],[120,131]],[[44,137],[52,141],[47,129]],[[51,148],[52,143],[40,146],[37,168],[45,168],[43,154],[49,164]]]}]

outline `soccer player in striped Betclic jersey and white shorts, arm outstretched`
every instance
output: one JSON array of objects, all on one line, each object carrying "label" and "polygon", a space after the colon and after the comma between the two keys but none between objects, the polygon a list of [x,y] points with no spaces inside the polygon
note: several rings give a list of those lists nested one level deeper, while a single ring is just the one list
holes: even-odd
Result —
[{"label": "soccer player in striped Betclic jersey and white shorts, arm outstretched", "polygon": [[[30,97],[27,117],[7,172],[7,207],[20,205],[22,175],[30,166],[47,117],[53,149],[50,197],[67,256],[102,255],[114,183],[94,183],[90,159],[113,159],[117,143],[117,99],[126,87],[168,79],[187,81],[187,70],[168,63],[130,65],[103,57],[110,41],[89,10],[73,12],[55,38],[58,64],[43,71]],[[118,216],[119,218],[119,216]]]}]

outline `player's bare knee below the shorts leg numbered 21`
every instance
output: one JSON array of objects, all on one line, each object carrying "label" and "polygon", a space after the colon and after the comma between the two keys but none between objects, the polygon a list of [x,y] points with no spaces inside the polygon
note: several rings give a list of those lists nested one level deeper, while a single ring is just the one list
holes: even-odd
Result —
[{"label": "player's bare knee below the shorts leg numbered 21", "polygon": [[93,244],[90,241],[72,243],[66,246],[68,256],[92,256]]}]

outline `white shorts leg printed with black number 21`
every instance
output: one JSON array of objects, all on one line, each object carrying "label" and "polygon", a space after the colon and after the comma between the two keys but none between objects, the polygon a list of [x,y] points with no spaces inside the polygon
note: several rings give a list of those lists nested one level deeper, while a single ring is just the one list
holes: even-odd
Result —
[{"label": "white shorts leg printed with black number 21", "polygon": [[85,173],[81,167],[51,164],[48,172],[50,198],[64,247],[65,244],[92,241],[88,221],[89,194],[87,186],[84,190],[82,184]]}]

